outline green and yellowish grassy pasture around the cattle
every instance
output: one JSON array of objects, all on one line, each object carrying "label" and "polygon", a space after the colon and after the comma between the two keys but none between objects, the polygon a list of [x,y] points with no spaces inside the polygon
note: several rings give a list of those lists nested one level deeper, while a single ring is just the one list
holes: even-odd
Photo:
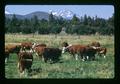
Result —
[{"label": "green and yellowish grassy pasture around the cattle", "polygon": [[61,43],[67,41],[69,44],[87,45],[92,41],[99,41],[101,46],[106,47],[106,58],[96,55],[95,61],[75,60],[69,53],[62,54],[60,62],[50,64],[45,63],[33,54],[34,60],[32,71],[28,75],[20,77],[17,68],[17,55],[10,54],[9,62],[5,64],[5,78],[114,78],[114,36],[97,35],[13,35],[5,34],[5,44],[20,42],[45,43],[49,47],[61,48]]}]

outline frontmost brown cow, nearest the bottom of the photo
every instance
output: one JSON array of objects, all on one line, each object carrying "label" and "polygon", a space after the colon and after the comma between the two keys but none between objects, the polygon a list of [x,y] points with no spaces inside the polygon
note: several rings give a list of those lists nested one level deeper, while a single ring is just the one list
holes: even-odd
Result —
[{"label": "frontmost brown cow, nearest the bottom of the photo", "polygon": [[18,69],[20,73],[24,73],[27,69],[30,71],[33,62],[33,55],[31,52],[19,52],[18,54]]}]

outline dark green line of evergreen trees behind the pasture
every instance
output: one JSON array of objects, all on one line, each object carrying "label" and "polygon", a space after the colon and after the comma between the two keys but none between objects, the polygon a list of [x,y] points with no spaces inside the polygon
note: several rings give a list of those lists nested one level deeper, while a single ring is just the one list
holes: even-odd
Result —
[{"label": "dark green line of evergreen trees behind the pasture", "polygon": [[99,33],[101,35],[114,34],[114,14],[109,19],[90,17],[84,15],[78,18],[76,15],[71,20],[62,17],[56,18],[49,15],[49,20],[39,20],[37,16],[31,19],[18,19],[13,15],[12,19],[5,18],[5,33],[38,33],[59,34],[64,27],[67,34],[90,35]]}]

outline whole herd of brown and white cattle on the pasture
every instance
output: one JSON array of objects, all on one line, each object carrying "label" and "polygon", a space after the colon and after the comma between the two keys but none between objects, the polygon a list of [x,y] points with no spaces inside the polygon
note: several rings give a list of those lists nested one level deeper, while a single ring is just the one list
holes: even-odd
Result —
[{"label": "whole herd of brown and white cattle on the pasture", "polygon": [[107,52],[107,49],[101,47],[99,42],[92,42],[88,45],[69,45],[67,42],[63,42],[61,47],[62,49],[52,48],[46,44],[36,44],[32,42],[23,42],[19,45],[8,44],[5,45],[5,63],[9,61],[10,53],[16,53],[18,55],[18,69],[20,73],[22,73],[25,69],[31,69],[33,53],[45,62],[57,62],[65,52],[69,52],[76,60],[81,58],[82,61],[95,60],[95,54],[104,56],[105,58]]}]

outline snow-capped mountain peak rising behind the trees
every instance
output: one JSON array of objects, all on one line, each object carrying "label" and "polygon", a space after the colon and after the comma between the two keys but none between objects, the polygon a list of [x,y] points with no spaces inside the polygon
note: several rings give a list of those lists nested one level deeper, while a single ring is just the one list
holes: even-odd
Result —
[{"label": "snow-capped mountain peak rising behind the trees", "polygon": [[55,16],[61,16],[66,19],[71,19],[74,15],[74,13],[70,10],[60,10],[60,11],[49,10],[49,13],[52,13]]}]

